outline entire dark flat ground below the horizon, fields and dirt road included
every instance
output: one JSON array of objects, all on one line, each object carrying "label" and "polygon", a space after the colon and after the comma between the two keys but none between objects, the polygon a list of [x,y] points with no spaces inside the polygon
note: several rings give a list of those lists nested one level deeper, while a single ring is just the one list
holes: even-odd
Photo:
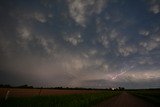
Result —
[{"label": "entire dark flat ground below the horizon, fields and dirt road included", "polygon": [[1,107],[159,107],[160,90],[0,88]]}]

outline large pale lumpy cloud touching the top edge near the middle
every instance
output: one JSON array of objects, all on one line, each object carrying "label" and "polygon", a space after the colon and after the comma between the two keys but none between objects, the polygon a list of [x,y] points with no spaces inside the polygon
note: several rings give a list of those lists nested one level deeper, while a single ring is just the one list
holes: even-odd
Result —
[{"label": "large pale lumpy cloud touching the top edge near the middle", "polygon": [[106,0],[68,0],[71,18],[83,27],[93,14],[101,13],[105,4]]}]

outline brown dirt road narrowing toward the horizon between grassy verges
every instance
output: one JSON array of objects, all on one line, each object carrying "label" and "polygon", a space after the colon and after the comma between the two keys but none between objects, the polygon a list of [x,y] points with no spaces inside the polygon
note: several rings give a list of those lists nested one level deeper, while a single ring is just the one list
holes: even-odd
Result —
[{"label": "brown dirt road narrowing toward the horizon between grassy verges", "polygon": [[104,101],[94,107],[158,107],[138,97],[123,92],[121,95]]}]

